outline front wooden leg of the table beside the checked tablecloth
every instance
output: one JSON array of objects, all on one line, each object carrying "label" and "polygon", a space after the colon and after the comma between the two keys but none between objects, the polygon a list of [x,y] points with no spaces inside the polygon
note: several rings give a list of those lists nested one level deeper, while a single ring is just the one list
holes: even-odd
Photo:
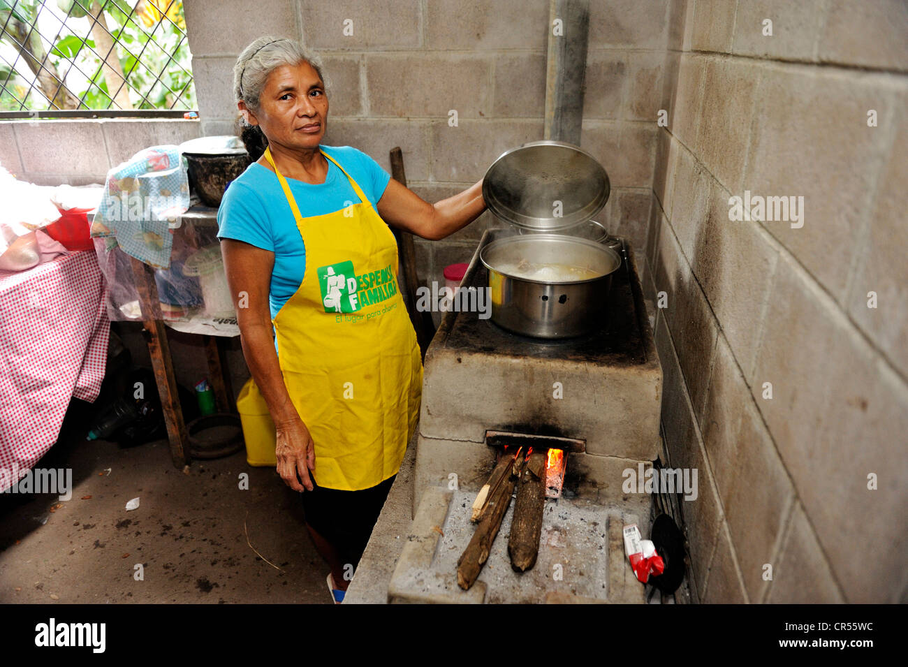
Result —
[{"label": "front wooden leg of the table beside the checked tablecloth", "polygon": [[177,391],[176,379],[173,378],[173,359],[162,321],[161,301],[158,299],[158,288],[154,283],[154,270],[134,257],[129,259],[133,266],[135,288],[139,292],[139,303],[142,306],[148,354],[152,358],[154,381],[161,397],[161,410],[167,427],[167,437],[170,440],[171,459],[173,466],[183,468],[189,463],[186,449],[188,435],[186,424],[183,422],[183,408],[180,407],[180,394]]}]

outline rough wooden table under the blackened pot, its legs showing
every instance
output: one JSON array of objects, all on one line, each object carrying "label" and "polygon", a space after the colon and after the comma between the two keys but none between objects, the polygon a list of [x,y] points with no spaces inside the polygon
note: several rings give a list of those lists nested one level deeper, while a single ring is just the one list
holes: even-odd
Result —
[{"label": "rough wooden table under the blackened pot, its legs showing", "polygon": [[[180,227],[174,233],[192,233],[195,227],[217,227],[217,209],[200,204],[193,205],[181,217]],[[148,344],[148,353],[152,358],[154,380],[161,397],[164,423],[167,426],[167,437],[170,440],[173,466],[183,468],[189,464],[189,439],[186,424],[183,421],[183,409],[180,407],[180,396],[177,392],[176,379],[173,377],[173,358],[167,342],[167,330],[161,312],[161,301],[158,298],[157,285],[154,282],[154,269],[134,257],[133,265],[135,287],[139,292],[139,305],[142,307],[143,336]],[[191,334],[194,335],[194,334]],[[219,412],[235,413],[236,402],[233,399],[232,383],[229,368],[224,358],[222,336],[202,335],[205,345],[205,358],[208,363],[208,380],[212,385]],[[224,369],[228,372],[224,373]]]}]

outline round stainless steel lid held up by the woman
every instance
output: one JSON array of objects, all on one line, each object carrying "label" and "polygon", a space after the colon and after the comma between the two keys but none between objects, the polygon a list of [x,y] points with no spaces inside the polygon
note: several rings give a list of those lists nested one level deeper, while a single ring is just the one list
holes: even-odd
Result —
[{"label": "round stainless steel lid held up by the woman", "polygon": [[501,153],[482,180],[489,211],[544,231],[590,220],[606,205],[609,191],[608,174],[596,158],[572,143],[548,140]]}]

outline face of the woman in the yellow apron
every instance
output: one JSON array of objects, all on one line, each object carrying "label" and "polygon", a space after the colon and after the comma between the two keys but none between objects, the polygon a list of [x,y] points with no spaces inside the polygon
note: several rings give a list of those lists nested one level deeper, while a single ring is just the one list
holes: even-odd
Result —
[{"label": "face of the woman in the yellow apron", "polygon": [[281,65],[265,80],[259,110],[249,113],[269,143],[318,149],[328,121],[325,84],[309,63]]}]

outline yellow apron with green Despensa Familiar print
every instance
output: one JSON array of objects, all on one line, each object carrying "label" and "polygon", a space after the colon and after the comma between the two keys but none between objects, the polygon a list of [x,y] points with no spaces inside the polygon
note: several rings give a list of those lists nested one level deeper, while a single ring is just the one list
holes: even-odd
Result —
[{"label": "yellow apron with green Despensa Familiar print", "polygon": [[422,361],[397,282],[397,240],[360,186],[341,211],[303,218],[300,289],[271,319],[284,384],[315,443],[319,486],[359,491],[400,470],[419,417]]}]

